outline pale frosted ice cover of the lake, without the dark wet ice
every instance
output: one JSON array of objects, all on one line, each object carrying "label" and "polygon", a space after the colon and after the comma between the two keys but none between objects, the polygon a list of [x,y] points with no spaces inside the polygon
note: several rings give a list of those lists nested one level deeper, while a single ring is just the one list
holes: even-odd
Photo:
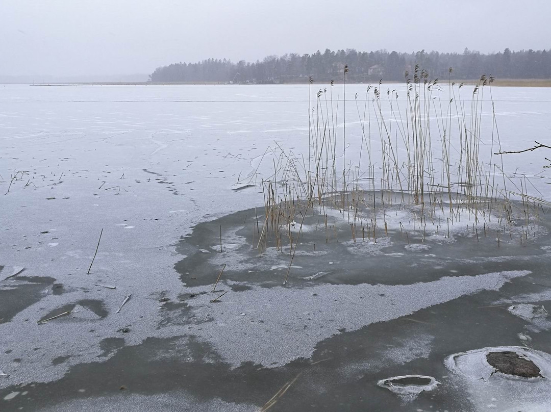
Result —
[{"label": "pale frosted ice cover of the lake, without the dark wet ice", "polygon": [[[402,99],[403,86],[396,87],[401,90]],[[473,263],[468,270],[462,267],[457,276],[446,267],[445,270],[436,269],[438,272],[433,278],[425,277],[420,281],[413,277],[409,284],[386,274],[386,278],[377,278],[373,284],[364,282],[355,290],[353,285],[336,284],[347,281],[337,278],[344,272],[345,259],[349,259],[351,254],[359,259],[363,253],[371,251],[370,257],[374,259],[402,259],[404,264],[412,264],[411,272],[416,276],[425,276],[428,269],[424,264],[430,262],[432,267],[435,257],[441,260],[450,258],[441,249],[446,243],[446,238],[441,237],[445,225],[438,222],[438,219],[445,221],[446,215],[441,214],[436,216],[434,223],[439,225],[439,236],[426,236],[425,241],[419,237],[410,238],[410,245],[406,245],[404,238],[400,242],[396,239],[387,242],[381,238],[377,247],[354,245],[348,238],[342,245],[347,251],[344,254],[321,250],[318,243],[316,256],[320,254],[323,259],[320,265],[324,268],[307,268],[295,263],[307,271],[296,273],[301,277],[328,272],[322,277],[302,280],[314,285],[315,289],[304,285],[297,290],[279,286],[263,289],[251,285],[250,290],[228,291],[221,303],[209,302],[216,296],[199,295],[185,302],[193,317],[191,321],[173,316],[176,321],[167,324],[169,315],[159,308],[160,296],[169,296],[173,302],[179,302],[180,295],[209,290],[203,286],[188,288],[182,285],[181,274],[176,272],[174,265],[184,257],[175,253],[175,245],[182,241],[182,237],[190,236],[193,227],[199,223],[255,206],[258,214],[263,215],[261,205],[264,198],[258,183],[274,173],[273,160],[277,160],[277,155],[266,151],[267,147],[274,147],[274,141],[297,155],[308,151],[307,86],[259,85],[250,88],[249,96],[245,97],[237,95],[242,93],[242,88],[214,86],[2,86],[0,265],[4,269],[1,279],[15,274],[15,267],[25,267],[17,277],[52,278],[63,285],[64,292],[54,295],[51,284],[42,286],[36,283],[36,287],[41,288],[37,292],[36,299],[39,300],[29,302],[13,318],[10,316],[9,321],[0,323],[0,346],[3,349],[0,351],[0,365],[10,375],[9,379],[0,380],[0,388],[29,382],[51,382],[63,377],[75,365],[105,362],[117,349],[98,357],[104,355],[102,341],[121,338],[121,332],[117,331],[128,324],[132,327],[131,333],[124,336],[127,346],[139,345],[149,337],[162,339],[189,333],[206,345],[212,344],[232,366],[242,361],[266,364],[277,361],[278,365],[283,365],[298,357],[310,356],[316,345],[341,334],[339,329],[344,327],[358,330],[372,322],[395,319],[420,308],[482,291],[499,290],[501,293],[507,281],[527,278],[527,272],[521,270],[526,269],[523,266],[533,259],[532,243],[516,247],[516,239],[515,248],[512,248],[514,241],[507,236],[502,239],[499,251],[489,256],[476,254],[478,248],[472,246],[476,245],[474,237],[467,239],[470,243],[461,243],[467,224],[473,223],[469,221],[455,226],[457,229],[451,228],[453,239],[458,240],[453,246],[462,247],[446,249],[456,259],[454,265],[462,258],[467,265]],[[366,85],[347,85],[347,95],[354,96],[365,89]],[[526,89],[522,88],[498,88],[493,93],[504,149],[525,149],[533,145],[534,139],[548,135],[551,89],[533,89],[527,95]],[[253,103],[245,100],[253,100]],[[354,105],[347,104],[347,118],[354,119],[355,110]],[[385,110],[388,108],[383,107]],[[492,150],[492,143],[494,149],[498,143],[497,140],[491,142],[491,110],[490,104],[485,106],[484,120],[490,121],[481,124],[485,139],[481,150],[484,153]],[[351,146],[346,160],[355,167],[355,155],[352,154],[356,143],[353,142],[361,141],[358,122],[347,124],[347,131],[357,137],[347,140]],[[379,150],[375,147],[374,156]],[[538,153],[504,157],[507,185],[511,182],[511,187],[520,186],[522,178],[523,182],[527,181],[527,190],[531,194],[540,196],[547,193],[549,174],[546,173],[548,170],[542,170],[543,157]],[[4,195],[10,183],[9,176],[18,171],[17,180]],[[377,169],[377,173],[380,172]],[[500,178],[496,176],[496,180]],[[236,185],[237,181],[239,185]],[[348,225],[349,216],[338,211],[329,214],[343,227]],[[252,218],[252,215],[248,216],[247,224]],[[382,227],[382,215],[378,214],[377,218],[377,224]],[[412,230],[412,218],[409,210],[386,216],[395,234],[399,231],[399,223],[404,225],[404,230]],[[493,219],[492,224],[496,224]],[[119,230],[122,227],[129,230]],[[87,275],[102,228],[104,233],[98,255],[90,275]],[[224,252],[216,253],[214,258],[219,261],[213,262],[228,263],[230,269],[233,261],[225,258],[231,257],[231,250],[247,245],[247,240],[237,233],[234,237],[229,232],[224,233]],[[307,232],[308,235],[314,233],[314,230]],[[517,234],[518,231],[512,235]],[[250,236],[249,232],[247,236]],[[491,236],[494,238],[493,234]],[[205,257],[210,258],[214,251],[218,251],[217,242],[218,234],[215,234],[202,246],[205,250],[212,246],[211,254],[204,254]],[[506,245],[506,242],[511,245]],[[50,247],[48,243],[57,243],[57,246]],[[511,248],[506,248],[504,243]],[[305,244],[304,249],[299,247],[296,259],[307,258],[312,248],[311,244]],[[424,256],[428,252],[434,256]],[[550,250],[539,252],[549,254]],[[404,253],[404,256],[397,253]],[[268,248],[265,256],[268,268],[281,264],[280,254]],[[416,257],[412,258],[412,254]],[[519,271],[490,273],[494,269],[478,270],[481,262],[487,262],[484,259],[515,265]],[[252,259],[236,260],[235,263],[231,269],[242,270],[244,274],[258,267],[257,263],[253,265]],[[365,267],[371,264],[372,261]],[[330,273],[328,267],[331,267]],[[468,275],[463,270],[467,270]],[[284,269],[277,272],[284,272]],[[228,273],[231,274],[231,270]],[[377,277],[381,273],[377,270],[371,275]],[[214,277],[217,274],[218,270]],[[452,274],[454,277],[450,277]],[[386,284],[382,284],[383,280]],[[280,283],[279,278],[277,281]],[[245,284],[224,282],[225,279],[220,284],[224,291]],[[2,292],[24,291],[21,296],[29,295],[21,286],[33,284],[31,281],[3,283],[6,285],[0,286]],[[117,289],[101,288],[95,286],[96,283],[116,285]],[[381,293],[386,295],[379,296]],[[549,292],[544,296],[539,290],[523,290],[523,293],[526,299],[528,295],[541,299],[550,296]],[[121,313],[115,314],[128,294],[132,294],[133,299]],[[415,295],[415,301],[410,295]],[[67,317],[36,325],[36,321],[46,313],[64,305],[74,305],[83,297],[101,301],[107,315],[101,320]],[[500,294],[492,299],[502,297]],[[537,300],[513,299],[507,303],[519,302],[536,303]],[[311,312],[311,315],[303,315],[304,312]],[[241,316],[241,313],[246,315]],[[0,319],[3,317],[0,315]],[[515,339],[517,332],[513,333]],[[537,336],[532,335],[536,340]],[[422,342],[432,342],[430,338],[426,339]],[[395,348],[394,352],[399,359],[424,357],[427,353],[430,353],[430,348],[424,351]],[[54,359],[63,356],[71,357],[62,364],[52,365]],[[23,361],[18,363],[14,359]],[[372,365],[376,365],[378,360],[372,360]],[[13,392],[11,389],[6,391],[9,391],[6,395]],[[138,410],[136,405],[139,404],[143,410],[148,410],[154,408],[152,404],[155,402],[170,403],[172,396],[167,394],[161,399],[125,397],[121,403],[124,408]],[[207,401],[206,406],[201,406],[202,400],[187,394],[184,397],[188,400],[181,405],[190,405],[195,410],[251,409],[249,404],[234,405],[223,400],[214,400],[212,404]],[[19,394],[9,402],[14,404],[21,398]],[[97,405],[102,405],[101,408],[109,410],[110,405],[114,405],[114,410],[120,410],[121,404],[111,402],[111,399],[90,399],[90,402],[69,402],[63,408],[95,410]]]}]

